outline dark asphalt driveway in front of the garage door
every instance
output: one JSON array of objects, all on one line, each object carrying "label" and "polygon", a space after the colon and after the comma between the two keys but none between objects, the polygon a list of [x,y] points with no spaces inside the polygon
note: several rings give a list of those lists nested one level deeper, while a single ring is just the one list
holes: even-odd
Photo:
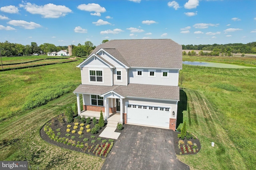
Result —
[{"label": "dark asphalt driveway in front of the garage door", "polygon": [[102,170],[189,170],[176,157],[173,131],[124,125]]}]

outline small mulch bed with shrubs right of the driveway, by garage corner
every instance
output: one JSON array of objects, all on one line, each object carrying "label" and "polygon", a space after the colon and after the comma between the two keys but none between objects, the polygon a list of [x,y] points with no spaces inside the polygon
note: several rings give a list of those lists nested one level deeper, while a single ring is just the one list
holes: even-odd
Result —
[{"label": "small mulch bed with shrubs right of the driveway, by garage corner", "polygon": [[[185,139],[183,140],[184,141],[184,145],[181,144],[180,148],[179,148],[179,141],[181,140],[180,138],[178,138],[178,134],[179,133],[180,132],[177,132],[177,131],[175,131],[173,133],[174,150],[175,150],[176,154],[181,154],[181,155],[184,155],[184,154],[196,154],[196,153],[198,153],[200,151],[200,149],[201,149],[200,141],[196,137],[193,137],[191,139],[186,139],[186,137],[185,137]],[[191,141],[191,143],[193,145],[188,145],[188,141]],[[193,148],[195,143],[196,143],[196,147]]]}]

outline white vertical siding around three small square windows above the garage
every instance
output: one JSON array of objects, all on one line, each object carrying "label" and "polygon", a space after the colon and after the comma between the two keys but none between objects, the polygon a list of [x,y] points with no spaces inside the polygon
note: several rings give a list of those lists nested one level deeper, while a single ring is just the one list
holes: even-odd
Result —
[{"label": "white vertical siding around three small square windows above the garage", "polygon": [[[168,72],[167,77],[162,76],[162,70],[156,70],[154,77],[149,76],[151,69],[143,69],[143,76],[137,76],[137,71],[138,69],[128,70],[128,83],[178,86],[178,70],[165,70]],[[154,78],[154,81],[152,81],[152,78]]]}]

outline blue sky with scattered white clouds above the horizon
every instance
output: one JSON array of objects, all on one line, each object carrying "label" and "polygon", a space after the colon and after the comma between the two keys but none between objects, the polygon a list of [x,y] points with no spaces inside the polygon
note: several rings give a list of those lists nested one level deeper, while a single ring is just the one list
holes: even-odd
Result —
[{"label": "blue sky with scattered white clouds above the horizon", "polygon": [[97,46],[104,39],[253,42],[256,0],[0,0],[0,42]]}]

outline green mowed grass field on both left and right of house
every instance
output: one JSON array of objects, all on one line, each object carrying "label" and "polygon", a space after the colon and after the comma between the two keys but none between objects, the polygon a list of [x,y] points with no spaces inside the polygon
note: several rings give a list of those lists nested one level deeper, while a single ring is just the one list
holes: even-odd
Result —
[{"label": "green mowed grass field on both left and right of house", "polygon": [[[20,160],[19,152],[10,141],[22,131],[27,131],[34,154],[33,168],[101,168],[104,159],[48,144],[39,134],[44,123],[66,107],[74,106],[76,96],[72,90],[81,82],[80,69],[75,66],[80,62],[82,61],[0,72],[0,103],[4,103],[0,106],[0,118],[6,118],[0,122],[0,160]],[[252,61],[247,66],[255,63],[256,61]],[[198,154],[177,155],[178,158],[191,169],[255,169],[256,69],[183,64],[180,72],[185,75],[185,89],[181,90],[179,102],[184,110],[182,122],[187,122],[187,130],[199,138],[202,148]],[[212,87],[214,82],[237,86],[241,92]],[[22,111],[26,101],[30,100],[30,94],[38,90],[46,92],[47,88],[55,89],[61,84],[70,93],[44,106]],[[211,142],[215,143],[215,147],[211,147]]]}]

